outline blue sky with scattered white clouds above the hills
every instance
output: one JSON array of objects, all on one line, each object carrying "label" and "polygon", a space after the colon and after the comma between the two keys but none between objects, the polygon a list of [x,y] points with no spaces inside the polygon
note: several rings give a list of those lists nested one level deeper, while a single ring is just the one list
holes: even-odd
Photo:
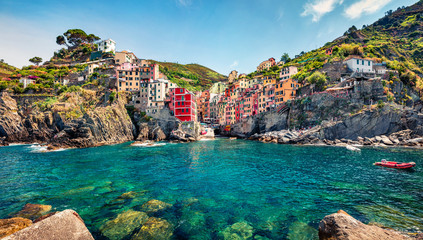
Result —
[{"label": "blue sky with scattered white clouds above the hills", "polygon": [[318,48],[417,0],[0,0],[0,58],[48,60],[57,35],[81,28],[137,57],[198,63],[224,75]]}]

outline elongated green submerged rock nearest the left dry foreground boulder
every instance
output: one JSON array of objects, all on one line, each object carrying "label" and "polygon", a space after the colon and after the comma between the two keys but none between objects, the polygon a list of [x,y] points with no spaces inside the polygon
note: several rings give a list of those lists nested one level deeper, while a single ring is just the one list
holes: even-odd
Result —
[{"label": "elongated green submerged rock nearest the left dry foreground boulder", "polygon": [[119,240],[130,235],[136,228],[148,220],[144,212],[128,210],[119,214],[115,219],[106,222],[100,231],[110,240]]}]

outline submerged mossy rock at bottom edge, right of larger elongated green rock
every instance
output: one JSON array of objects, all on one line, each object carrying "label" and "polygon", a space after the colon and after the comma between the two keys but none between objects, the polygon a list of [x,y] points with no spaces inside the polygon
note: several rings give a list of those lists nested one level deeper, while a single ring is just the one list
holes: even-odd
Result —
[{"label": "submerged mossy rock at bottom edge, right of larger elongated green rock", "polygon": [[168,221],[151,217],[131,240],[165,240],[173,235],[173,226]]}]

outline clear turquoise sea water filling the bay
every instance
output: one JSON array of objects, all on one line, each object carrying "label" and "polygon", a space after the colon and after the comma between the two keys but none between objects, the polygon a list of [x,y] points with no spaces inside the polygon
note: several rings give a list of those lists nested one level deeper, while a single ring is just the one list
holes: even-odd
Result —
[{"label": "clear turquoise sea water filling the bay", "polygon": [[[157,199],[173,205],[156,217],[175,227],[174,239],[223,239],[238,222],[250,225],[255,239],[316,239],[319,221],[339,209],[366,223],[423,231],[422,150],[354,153],[228,139],[38,150],[0,148],[0,218],[26,203],[70,208],[103,239],[105,222]],[[417,167],[372,165],[382,158]],[[129,191],[139,195],[118,199]]]}]

